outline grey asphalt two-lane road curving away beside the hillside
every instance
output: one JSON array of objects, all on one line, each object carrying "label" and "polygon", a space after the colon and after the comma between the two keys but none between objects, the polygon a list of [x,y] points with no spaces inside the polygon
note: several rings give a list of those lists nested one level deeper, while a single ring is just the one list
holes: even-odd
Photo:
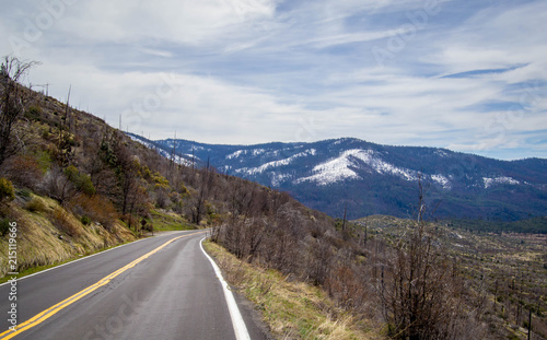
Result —
[{"label": "grey asphalt two-lane road curving away beside the hillside", "polygon": [[[199,246],[205,235],[163,234],[18,281],[18,324],[49,313],[13,339],[236,339],[221,283]],[[10,326],[10,289],[0,286],[0,332]],[[266,339],[251,308],[238,305],[251,339]]]}]

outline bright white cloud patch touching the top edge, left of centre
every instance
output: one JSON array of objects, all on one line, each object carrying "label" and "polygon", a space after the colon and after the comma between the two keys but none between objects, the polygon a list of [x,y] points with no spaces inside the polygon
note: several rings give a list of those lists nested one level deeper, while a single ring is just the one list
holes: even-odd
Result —
[{"label": "bright white cloud patch touching the top edge, left of centre", "polygon": [[248,22],[272,15],[275,9],[267,0],[92,0],[74,7],[77,15],[62,28],[79,38],[115,43],[163,39],[193,46],[226,38]]}]

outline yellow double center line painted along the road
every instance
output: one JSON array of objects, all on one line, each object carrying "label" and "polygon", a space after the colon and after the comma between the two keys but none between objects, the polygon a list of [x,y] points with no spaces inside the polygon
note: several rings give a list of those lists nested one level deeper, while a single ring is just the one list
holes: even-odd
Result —
[{"label": "yellow double center line painted along the road", "polygon": [[155,249],[153,249],[153,250],[144,254],[143,256],[141,256],[138,259],[136,259],[135,261],[130,262],[129,265],[126,265],[126,266],[121,267],[120,269],[116,270],[115,272],[113,272],[112,274],[109,274],[109,275],[107,275],[107,277],[98,280],[96,283],[94,283],[94,284],[88,286],[86,289],[84,289],[84,290],[75,293],[74,295],[72,295],[72,296],[70,296],[70,297],[61,301],[60,303],[58,303],[58,304],[56,304],[56,305],[47,308],[46,310],[44,310],[44,312],[42,312],[39,314],[36,314],[34,317],[30,318],[28,320],[24,321],[23,324],[18,325],[18,327],[16,327],[15,330],[11,330],[10,329],[10,330],[4,331],[3,333],[0,333],[0,340],[11,339],[11,338],[13,338],[13,337],[22,333],[23,331],[25,331],[27,329],[31,329],[31,328],[33,328],[36,325],[39,325],[40,323],[43,323],[46,319],[48,319],[51,316],[54,316],[57,312],[61,310],[65,307],[68,307],[69,305],[71,305],[74,302],[77,302],[80,298],[82,298],[83,296],[85,296],[89,293],[95,291],[100,286],[103,286],[103,285],[107,284],[108,282],[112,281],[112,279],[116,278],[117,275],[119,275],[124,271],[126,271],[126,270],[128,270],[130,268],[133,268],[140,261],[149,258],[150,256],[152,256],[155,253],[160,251],[161,249],[165,248],[172,242],[175,242],[178,238],[188,237],[188,236],[196,235],[196,234],[201,234],[201,233],[203,233],[203,232],[191,233],[191,234],[188,234],[188,235],[178,236],[178,237],[175,237],[175,238],[172,238],[172,239],[167,241],[163,245],[161,245],[158,248],[155,248]]}]

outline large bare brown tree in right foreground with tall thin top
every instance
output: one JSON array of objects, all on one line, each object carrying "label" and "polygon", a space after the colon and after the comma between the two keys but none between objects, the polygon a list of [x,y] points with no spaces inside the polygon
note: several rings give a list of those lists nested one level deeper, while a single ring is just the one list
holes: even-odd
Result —
[{"label": "large bare brown tree in right foreground with tall thin top", "polygon": [[387,257],[377,292],[395,339],[455,339],[461,316],[457,280],[434,228],[426,221],[419,183],[418,215]]}]

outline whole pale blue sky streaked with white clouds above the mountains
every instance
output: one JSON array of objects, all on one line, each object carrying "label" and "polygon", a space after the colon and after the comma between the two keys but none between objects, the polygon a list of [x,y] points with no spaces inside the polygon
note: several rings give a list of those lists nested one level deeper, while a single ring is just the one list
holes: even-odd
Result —
[{"label": "whole pale blue sky streaked with white clouds above the mountains", "polygon": [[547,157],[547,1],[11,1],[0,32],[26,82],[152,139]]}]

